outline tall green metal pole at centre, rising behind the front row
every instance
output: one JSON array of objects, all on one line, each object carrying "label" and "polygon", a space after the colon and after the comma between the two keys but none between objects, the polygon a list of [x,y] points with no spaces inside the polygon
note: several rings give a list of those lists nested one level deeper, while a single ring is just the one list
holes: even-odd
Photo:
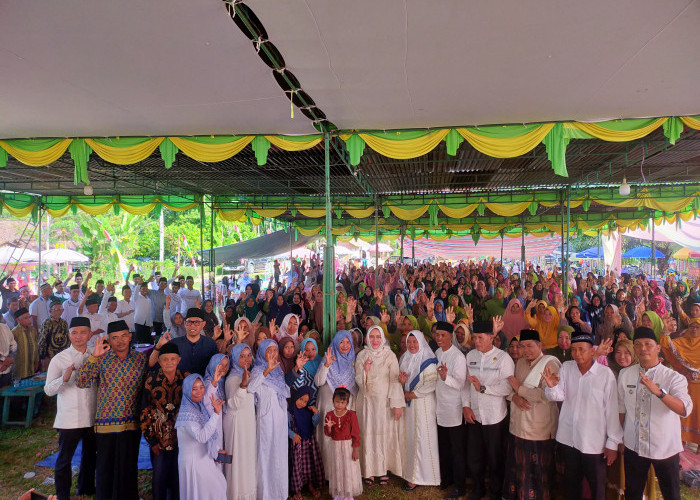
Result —
[{"label": "tall green metal pole at centre, rising behind the front row", "polygon": [[330,136],[325,131],[323,143],[326,157],[326,248],[323,258],[323,345],[328,346],[335,334],[335,247],[333,246],[333,207],[331,205]]}]

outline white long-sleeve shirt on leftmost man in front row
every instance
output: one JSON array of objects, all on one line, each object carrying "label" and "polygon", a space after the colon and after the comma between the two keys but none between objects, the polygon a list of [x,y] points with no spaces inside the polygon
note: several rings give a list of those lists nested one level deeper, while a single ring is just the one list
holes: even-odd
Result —
[{"label": "white long-sleeve shirt on leftmost man in front row", "polygon": [[[80,389],[75,385],[78,369],[85,364],[91,354],[91,347],[88,347],[84,353],[80,353],[70,346],[51,358],[44,392],[47,396],[58,394],[58,410],[53,424],[56,429],[81,429],[95,424],[97,387],[93,384],[87,389]],[[70,380],[64,382],[63,374],[72,364],[75,365],[75,370]]]}]

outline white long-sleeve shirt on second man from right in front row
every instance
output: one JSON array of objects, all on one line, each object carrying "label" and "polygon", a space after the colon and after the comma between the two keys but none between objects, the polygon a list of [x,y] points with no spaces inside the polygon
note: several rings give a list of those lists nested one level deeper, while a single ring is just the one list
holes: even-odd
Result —
[{"label": "white long-sleeve shirt on second man from right in front row", "polygon": [[576,361],[565,361],[559,370],[559,383],[546,387],[544,394],[550,401],[564,402],[558,442],[590,455],[601,454],[604,448],[616,450],[622,442],[617,383],[607,366],[593,362],[581,375]]}]

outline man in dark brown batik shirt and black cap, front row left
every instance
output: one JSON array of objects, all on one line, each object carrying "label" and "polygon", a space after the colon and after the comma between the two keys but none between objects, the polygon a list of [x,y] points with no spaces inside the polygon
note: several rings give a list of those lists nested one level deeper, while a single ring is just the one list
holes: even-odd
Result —
[{"label": "man in dark brown batik shirt and black cap, front row left", "polygon": [[[168,333],[166,333],[166,336]],[[184,376],[177,369],[180,351],[172,342],[158,348],[157,371],[146,378],[141,407],[141,432],[151,447],[154,500],[178,498],[177,431]]]}]

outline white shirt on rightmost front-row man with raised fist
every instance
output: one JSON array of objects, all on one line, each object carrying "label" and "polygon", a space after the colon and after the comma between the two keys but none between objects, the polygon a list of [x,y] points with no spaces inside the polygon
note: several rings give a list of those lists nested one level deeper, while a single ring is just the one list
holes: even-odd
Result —
[{"label": "white shirt on rightmost front-row man with raised fist", "polygon": [[[641,457],[664,460],[683,451],[681,417],[642,384],[642,371],[639,364],[628,366],[617,381],[620,413],[625,414],[625,447]],[[685,416],[690,415],[693,400],[683,375],[661,363],[645,373],[670,396],[683,401]]]}]

